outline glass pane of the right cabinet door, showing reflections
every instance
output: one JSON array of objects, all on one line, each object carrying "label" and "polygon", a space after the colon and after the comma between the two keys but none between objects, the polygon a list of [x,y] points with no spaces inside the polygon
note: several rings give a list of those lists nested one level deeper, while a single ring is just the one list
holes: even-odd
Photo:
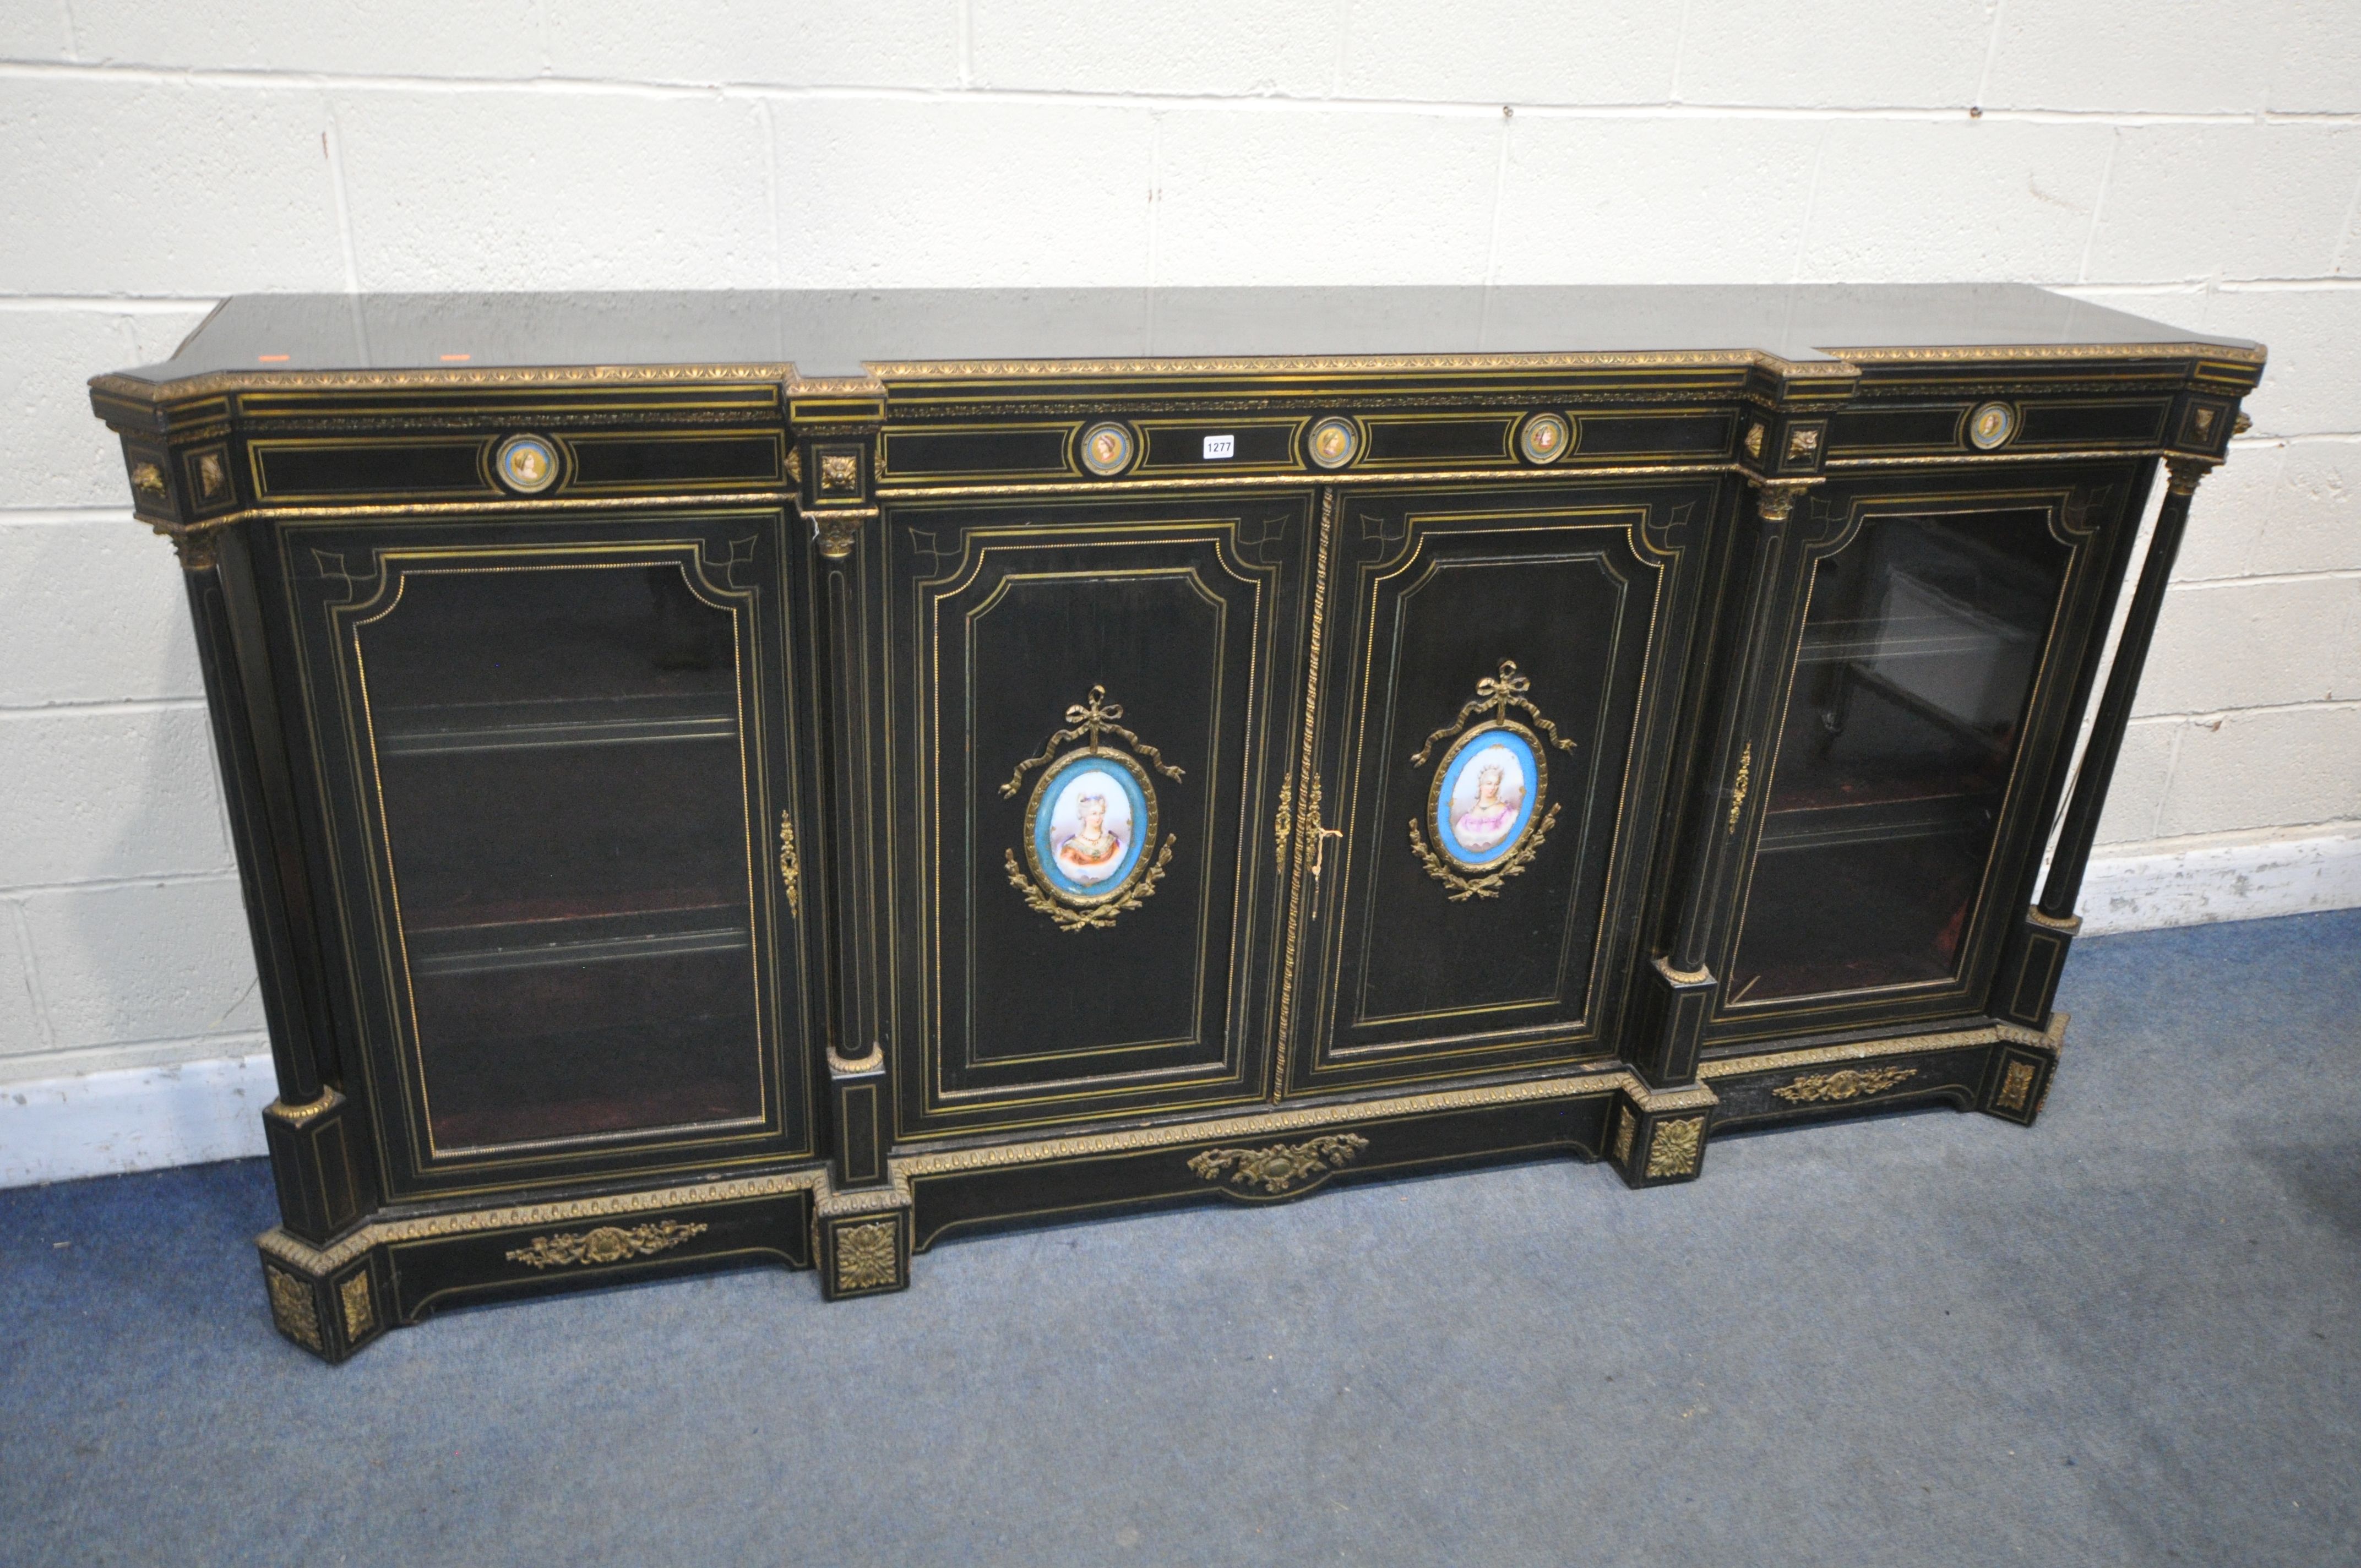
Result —
[{"label": "glass pane of the right cabinet door, showing reflections", "polygon": [[1957,973],[2066,562],[2012,510],[1872,520],[1818,564],[1731,1006]]}]

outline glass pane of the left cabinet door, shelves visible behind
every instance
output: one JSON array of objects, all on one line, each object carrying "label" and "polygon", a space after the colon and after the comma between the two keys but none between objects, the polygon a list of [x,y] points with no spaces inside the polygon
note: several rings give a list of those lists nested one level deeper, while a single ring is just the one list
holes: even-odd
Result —
[{"label": "glass pane of the left cabinet door, shelves visible behind", "polygon": [[352,621],[437,1152],[765,1115],[744,595],[397,567]]}]

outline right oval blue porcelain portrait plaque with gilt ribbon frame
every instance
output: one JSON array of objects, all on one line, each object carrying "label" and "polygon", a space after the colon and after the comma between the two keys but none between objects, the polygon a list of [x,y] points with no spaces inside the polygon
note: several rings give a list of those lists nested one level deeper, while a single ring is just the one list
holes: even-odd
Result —
[{"label": "right oval blue porcelain portrait plaque with gilt ribbon frame", "polygon": [[[1516,659],[1502,659],[1499,675],[1478,680],[1459,718],[1428,734],[1410,758],[1412,767],[1424,767],[1435,746],[1450,741],[1426,791],[1433,845],[1412,817],[1410,850],[1428,876],[1452,890],[1454,904],[1499,897],[1502,883],[1532,864],[1558,822],[1549,801],[1549,746],[1572,751],[1575,741],[1532,706],[1530,690],[1532,680],[1518,673]],[[1509,718],[1511,708],[1532,725]]]}]

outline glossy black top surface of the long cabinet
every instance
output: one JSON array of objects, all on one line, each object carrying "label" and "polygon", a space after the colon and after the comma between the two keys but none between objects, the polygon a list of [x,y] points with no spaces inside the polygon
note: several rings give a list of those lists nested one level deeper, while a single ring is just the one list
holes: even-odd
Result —
[{"label": "glossy black top surface of the long cabinet", "polygon": [[[888,378],[994,361],[1731,354],[1790,366],[1924,349],[2262,361],[2023,283],[1629,288],[907,288],[781,293],[238,295],[144,383],[302,371],[711,366]],[[1872,349],[1884,349],[1875,354]],[[1960,354],[1971,357],[1971,354]],[[1176,364],[1176,373],[1192,366]],[[1242,368],[1242,366],[1235,366]]]}]

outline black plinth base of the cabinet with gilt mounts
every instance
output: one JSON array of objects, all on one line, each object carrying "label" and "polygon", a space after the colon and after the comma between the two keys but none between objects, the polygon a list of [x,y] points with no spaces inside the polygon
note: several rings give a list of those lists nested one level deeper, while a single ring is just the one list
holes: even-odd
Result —
[{"label": "black plinth base of the cabinet with gilt mounts", "polygon": [[904,1148],[883,1185],[807,1164],[649,1193],[439,1214],[380,1214],[331,1244],[260,1237],[272,1322],[338,1363],[456,1301],[767,1261],[817,1268],[829,1301],[909,1289],[944,1235],[1114,1209],[1291,1202],[1336,1181],[1504,1159],[1605,1162],[1634,1188],[1695,1181],[1724,1129],[1953,1105],[2030,1124],[2066,1015],[2042,1032],[1981,1020],[1877,1041],[1726,1056],[1650,1089],[1605,1065],[1433,1093],[1263,1108],[1032,1143]]}]

